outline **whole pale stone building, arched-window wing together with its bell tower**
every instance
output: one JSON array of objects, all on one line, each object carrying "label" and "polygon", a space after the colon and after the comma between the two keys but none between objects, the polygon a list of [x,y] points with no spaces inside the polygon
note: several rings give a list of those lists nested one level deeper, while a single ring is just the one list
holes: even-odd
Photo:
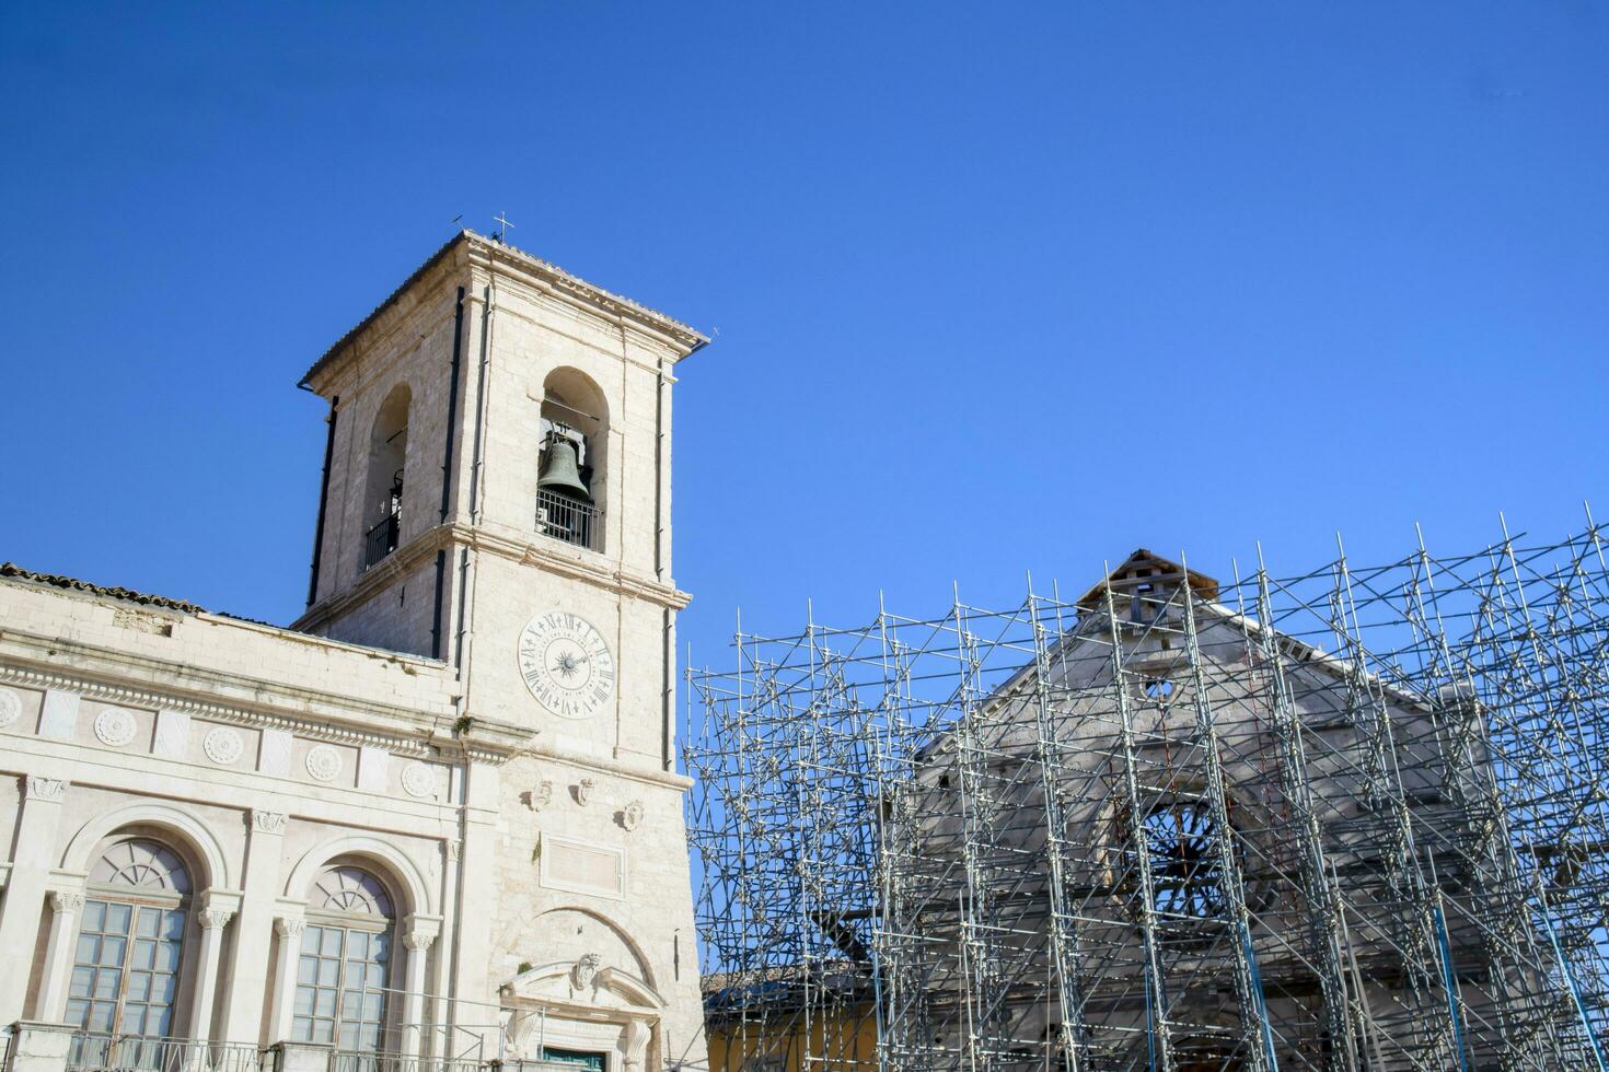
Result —
[{"label": "whole pale stone building, arched-window wing together with its bell tower", "polygon": [[[0,577],[0,950],[21,951],[0,1024],[18,1024],[16,1053],[48,1064],[35,1035],[69,1024],[611,1072],[703,1062],[673,763],[689,596],[669,569],[673,368],[703,342],[460,233],[306,376],[330,447],[290,628]],[[571,410],[586,540],[537,513],[553,413]],[[570,717],[521,670],[528,624],[553,611],[608,648],[589,665],[610,677]],[[320,956],[343,980],[328,995]]]}]

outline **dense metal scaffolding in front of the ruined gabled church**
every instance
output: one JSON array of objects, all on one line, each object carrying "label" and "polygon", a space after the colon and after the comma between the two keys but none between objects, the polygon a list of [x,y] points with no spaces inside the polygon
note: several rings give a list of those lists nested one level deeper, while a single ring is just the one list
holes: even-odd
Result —
[{"label": "dense metal scaffolding in front of the ruined gabled church", "polygon": [[1604,1070],[1591,518],[735,651],[684,736],[713,1069]]}]

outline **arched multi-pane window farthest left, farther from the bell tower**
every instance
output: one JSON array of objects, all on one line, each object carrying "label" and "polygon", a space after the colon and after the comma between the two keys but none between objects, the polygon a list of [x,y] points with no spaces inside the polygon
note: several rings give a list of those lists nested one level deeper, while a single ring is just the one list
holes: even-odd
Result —
[{"label": "arched multi-pane window farthest left, farther from the bell tower", "polygon": [[90,869],[68,1022],[117,1035],[174,1033],[190,873],[156,841],[114,842]]}]

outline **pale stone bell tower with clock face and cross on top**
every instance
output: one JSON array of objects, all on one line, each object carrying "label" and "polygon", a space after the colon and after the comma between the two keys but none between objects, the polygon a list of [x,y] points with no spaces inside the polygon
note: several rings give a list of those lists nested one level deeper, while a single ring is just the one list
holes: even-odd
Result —
[{"label": "pale stone bell tower with clock face and cross on top", "polygon": [[488,969],[459,996],[502,1008],[510,1056],[705,1059],[674,773],[671,387],[706,342],[462,231],[302,381],[330,428],[296,628],[442,661],[470,759],[476,739],[523,741],[470,765],[484,844],[465,836],[462,861]]}]

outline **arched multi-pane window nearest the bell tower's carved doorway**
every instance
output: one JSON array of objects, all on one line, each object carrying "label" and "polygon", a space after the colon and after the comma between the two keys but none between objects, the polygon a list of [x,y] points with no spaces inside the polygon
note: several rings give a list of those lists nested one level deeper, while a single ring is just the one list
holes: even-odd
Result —
[{"label": "arched multi-pane window nearest the bell tower's carved doorway", "polygon": [[396,911],[373,874],[331,865],[307,898],[291,1038],[375,1054],[386,1025]]}]

